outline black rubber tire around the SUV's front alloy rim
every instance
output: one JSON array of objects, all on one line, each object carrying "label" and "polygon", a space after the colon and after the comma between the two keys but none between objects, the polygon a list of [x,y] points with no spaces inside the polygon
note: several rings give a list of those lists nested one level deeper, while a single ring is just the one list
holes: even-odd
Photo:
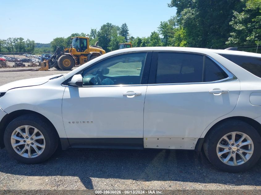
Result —
[{"label": "black rubber tire around the SUV's front alloy rim", "polygon": [[[39,156],[33,158],[20,156],[17,152],[15,152],[15,149],[12,147],[11,135],[16,128],[23,125],[30,125],[37,128],[44,136],[45,148]],[[45,120],[43,120],[42,117],[37,116],[35,114],[26,114],[17,117],[7,125],[6,130],[4,132],[4,144],[6,150],[9,152],[11,157],[15,158],[16,160],[22,163],[36,164],[44,162],[53,155],[58,146],[58,136],[56,130],[52,126],[48,125],[48,123]]]}]

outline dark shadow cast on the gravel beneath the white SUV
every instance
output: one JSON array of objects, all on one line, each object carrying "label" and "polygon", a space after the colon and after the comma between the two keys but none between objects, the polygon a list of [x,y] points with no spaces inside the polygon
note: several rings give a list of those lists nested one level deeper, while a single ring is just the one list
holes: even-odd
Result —
[{"label": "dark shadow cast on the gravel beneath the white SUV", "polygon": [[11,160],[3,149],[0,150],[0,171],[25,176],[75,176],[86,189],[93,189],[93,177],[252,186],[261,183],[261,160],[246,172],[226,173],[214,168],[202,153],[182,150],[72,148],[57,151],[42,164],[24,165]]}]

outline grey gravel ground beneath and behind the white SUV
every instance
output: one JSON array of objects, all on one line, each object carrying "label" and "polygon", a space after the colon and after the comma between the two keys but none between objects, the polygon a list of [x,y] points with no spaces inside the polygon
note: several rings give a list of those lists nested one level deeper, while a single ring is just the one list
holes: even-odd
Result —
[{"label": "grey gravel ground beneath and behind the white SUV", "polygon": [[[0,85],[65,73],[1,72]],[[12,69],[13,70],[13,69]],[[45,163],[25,165],[0,150],[0,189],[261,189],[261,160],[244,173],[215,169],[205,156],[181,150],[58,150]]]}]

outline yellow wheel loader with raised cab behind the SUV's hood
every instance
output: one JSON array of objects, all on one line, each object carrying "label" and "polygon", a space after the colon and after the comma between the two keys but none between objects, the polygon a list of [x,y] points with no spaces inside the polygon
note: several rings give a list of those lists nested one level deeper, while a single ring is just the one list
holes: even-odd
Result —
[{"label": "yellow wheel loader with raised cab behind the SUV's hood", "polygon": [[75,65],[82,65],[105,54],[103,48],[98,46],[98,42],[93,46],[89,45],[89,37],[72,37],[71,39],[72,44],[70,48],[64,48],[61,51],[57,47],[54,55],[49,60],[39,62],[41,68],[37,70],[46,71],[49,68],[55,67],[58,70],[68,71]]}]

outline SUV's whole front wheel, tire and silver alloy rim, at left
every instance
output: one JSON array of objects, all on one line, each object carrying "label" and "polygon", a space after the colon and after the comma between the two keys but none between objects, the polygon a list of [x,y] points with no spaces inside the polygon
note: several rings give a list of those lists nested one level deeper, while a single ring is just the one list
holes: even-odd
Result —
[{"label": "SUV's whole front wheel, tire and silver alloy rim, at left", "polygon": [[58,146],[56,130],[40,116],[27,114],[12,120],[4,132],[10,156],[26,164],[47,160]]}]

